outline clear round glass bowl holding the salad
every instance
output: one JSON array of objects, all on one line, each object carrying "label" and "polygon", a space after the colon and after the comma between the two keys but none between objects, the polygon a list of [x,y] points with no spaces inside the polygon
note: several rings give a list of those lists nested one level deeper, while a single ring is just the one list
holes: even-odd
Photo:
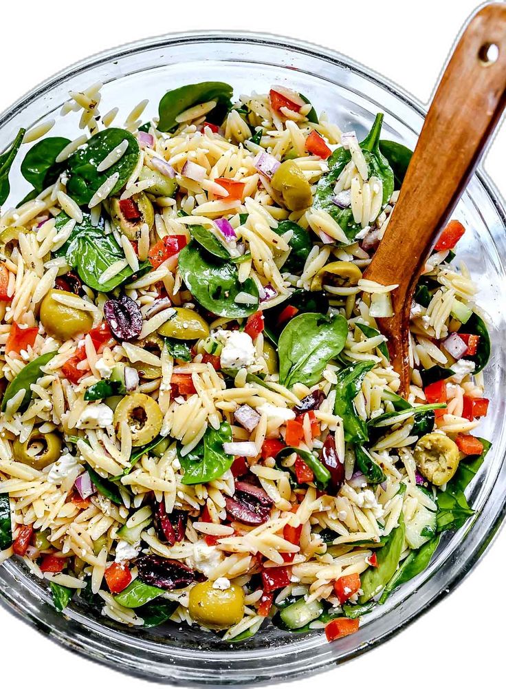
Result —
[{"label": "clear round glass bowl holding the salad", "polygon": [[[423,124],[425,111],[412,96],[330,50],[260,34],[172,34],[91,57],[34,88],[0,116],[0,150],[19,127],[50,117],[56,119],[50,136],[74,138],[78,114],[59,115],[69,90],[103,82],[101,112],[118,105],[117,121],[123,121],[141,99],[149,98],[145,114],[151,117],[167,90],[204,80],[231,83],[235,94],[266,92],[272,83],[292,86],[343,130],[357,130],[359,140],[378,110],[385,113],[383,138],[411,148]],[[11,179],[13,198],[22,198],[28,184],[19,167]],[[242,644],[224,644],[211,633],[175,625],[120,628],[100,615],[87,616],[78,604],[59,615],[43,583],[13,560],[0,567],[3,605],[66,648],[129,674],[168,683],[244,685],[295,679],[357,657],[450,593],[492,541],[503,520],[506,496],[506,312],[501,294],[506,285],[501,260],[506,256],[506,216],[498,192],[481,170],[470,181],[455,217],[467,227],[458,258],[466,261],[478,282],[478,303],[492,338],[492,359],[485,371],[490,412],[480,433],[494,440],[494,446],[471,486],[474,517],[457,533],[446,534],[430,567],[377,606],[358,633],[328,644],[321,633],[297,637],[269,626]]]}]

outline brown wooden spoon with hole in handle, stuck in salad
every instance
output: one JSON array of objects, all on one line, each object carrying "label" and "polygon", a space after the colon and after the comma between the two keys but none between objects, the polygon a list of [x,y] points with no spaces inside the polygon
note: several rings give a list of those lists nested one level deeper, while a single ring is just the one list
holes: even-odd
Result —
[{"label": "brown wooden spoon with hole in handle, stuck in salad", "polygon": [[470,19],[441,78],[399,200],[364,278],[399,285],[394,315],[380,318],[399,393],[410,389],[412,296],[432,244],[476,169],[506,105],[506,5]]}]

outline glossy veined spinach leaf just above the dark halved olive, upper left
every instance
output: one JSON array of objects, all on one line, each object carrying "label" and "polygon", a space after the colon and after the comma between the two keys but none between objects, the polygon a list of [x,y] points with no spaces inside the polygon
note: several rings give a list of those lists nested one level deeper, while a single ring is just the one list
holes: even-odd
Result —
[{"label": "glossy veined spinach leaf just above the dark halved olive, upper left", "polygon": [[[66,213],[58,214],[56,229],[61,229],[68,220],[70,218]],[[114,278],[99,282],[103,272],[116,261],[123,260],[125,254],[114,234],[104,234],[103,223],[99,223],[97,227],[92,225],[89,214],[84,214],[82,223],[76,223],[68,240],[55,254],[65,256],[68,265],[77,269],[85,285],[99,292],[110,292],[134,275],[134,271],[127,265]],[[151,268],[148,260],[143,261],[136,275],[141,276]]]}]

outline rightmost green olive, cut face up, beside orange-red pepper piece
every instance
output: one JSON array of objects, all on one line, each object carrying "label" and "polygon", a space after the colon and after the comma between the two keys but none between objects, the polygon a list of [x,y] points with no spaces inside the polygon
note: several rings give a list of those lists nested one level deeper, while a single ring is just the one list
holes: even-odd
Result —
[{"label": "rightmost green olive, cut face up, beside orange-red pepper piece", "polygon": [[414,461],[420,473],[434,486],[450,481],[460,458],[456,443],[442,433],[422,435],[414,447]]}]

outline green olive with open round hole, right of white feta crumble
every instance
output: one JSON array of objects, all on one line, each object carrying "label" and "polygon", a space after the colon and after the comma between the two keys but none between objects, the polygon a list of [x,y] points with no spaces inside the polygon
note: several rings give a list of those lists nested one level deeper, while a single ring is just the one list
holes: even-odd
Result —
[{"label": "green olive with open round hole, right of white feta crumble", "polygon": [[120,423],[126,421],[130,426],[131,444],[134,447],[147,445],[154,440],[162,428],[163,415],[152,397],[136,392],[126,395],[114,412],[114,428],[121,437]]}]

